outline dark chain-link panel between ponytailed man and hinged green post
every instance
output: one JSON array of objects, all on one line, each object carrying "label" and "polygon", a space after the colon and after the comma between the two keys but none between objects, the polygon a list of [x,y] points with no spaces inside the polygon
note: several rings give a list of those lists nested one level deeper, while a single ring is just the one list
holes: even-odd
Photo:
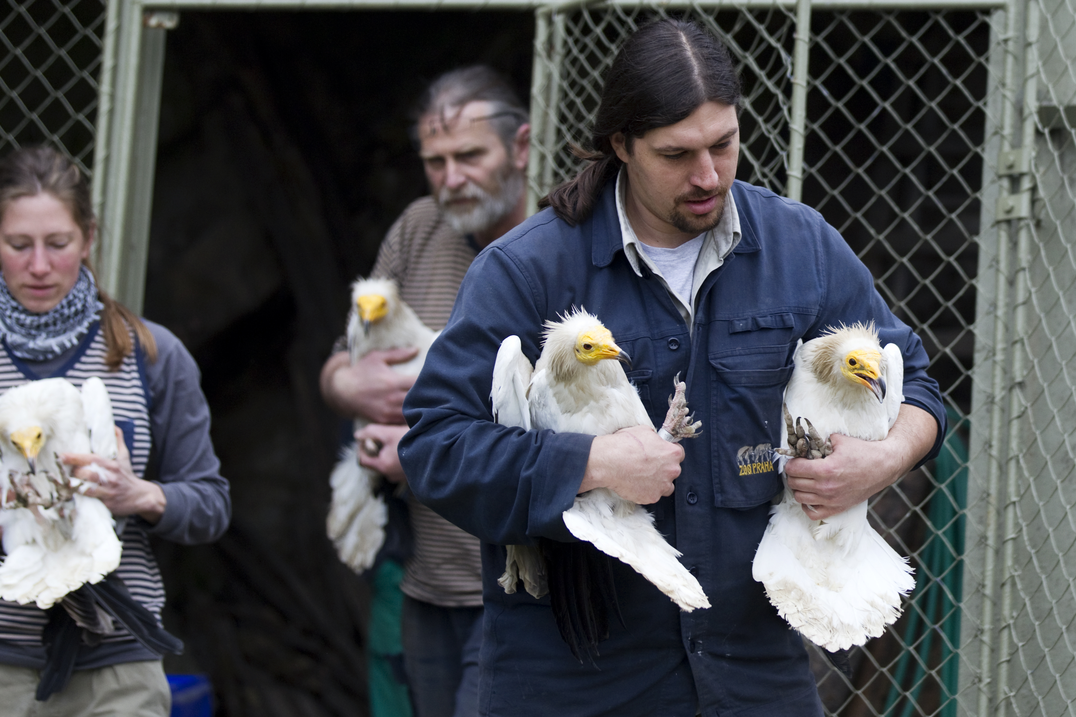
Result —
[{"label": "dark chain-link panel between ponytailed man and hinged green post", "polygon": [[990,30],[986,11],[811,17],[804,201],[922,339],[950,424],[938,460],[873,501],[917,589],[901,620],[858,650],[851,683],[820,678],[835,713],[955,715],[959,671],[972,668],[958,655],[962,618],[978,618],[964,615],[961,558]]}]

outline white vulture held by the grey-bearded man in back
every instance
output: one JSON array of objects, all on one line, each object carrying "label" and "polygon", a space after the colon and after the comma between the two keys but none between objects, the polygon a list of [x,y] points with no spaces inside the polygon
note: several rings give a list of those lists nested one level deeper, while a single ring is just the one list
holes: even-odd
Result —
[{"label": "white vulture held by the grey-bearded man in back", "polygon": [[[419,355],[392,368],[404,375],[417,375],[426,352],[437,338],[414,311],[400,299],[396,283],[387,278],[359,278],[351,287],[351,312],[348,317],[348,353],[351,362],[371,350],[417,348]],[[355,430],[367,425],[355,419]],[[358,464],[358,450],[377,455],[381,446],[350,444],[329,477],[332,499],[326,528],[340,560],[355,572],[373,564],[385,541],[388,519],[384,499],[378,494],[382,476]]]}]

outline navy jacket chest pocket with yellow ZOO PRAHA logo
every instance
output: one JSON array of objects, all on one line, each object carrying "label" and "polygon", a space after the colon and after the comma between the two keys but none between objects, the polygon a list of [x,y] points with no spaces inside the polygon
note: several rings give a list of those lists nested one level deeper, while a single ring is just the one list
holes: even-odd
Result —
[{"label": "navy jacket chest pocket with yellow ZOO PRAHA logo", "polygon": [[710,440],[713,497],[719,507],[752,507],[781,489],[774,447],[780,441],[781,402],[793,365],[785,347],[752,355],[710,357],[713,405]]}]

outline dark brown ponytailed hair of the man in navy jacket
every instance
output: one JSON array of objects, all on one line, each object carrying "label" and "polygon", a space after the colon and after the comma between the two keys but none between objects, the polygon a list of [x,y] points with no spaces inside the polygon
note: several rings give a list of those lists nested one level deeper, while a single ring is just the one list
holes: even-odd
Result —
[{"label": "dark brown ponytailed hair of the man in navy jacket", "polygon": [[552,206],[571,226],[583,221],[606,183],[620,171],[613,134],[624,133],[631,153],[633,140],[675,125],[710,101],[739,111],[739,77],[721,41],[682,19],[645,25],[627,39],[606,74],[591,133],[593,150],[572,147],[589,163],[575,178],[554,187],[538,206]]}]

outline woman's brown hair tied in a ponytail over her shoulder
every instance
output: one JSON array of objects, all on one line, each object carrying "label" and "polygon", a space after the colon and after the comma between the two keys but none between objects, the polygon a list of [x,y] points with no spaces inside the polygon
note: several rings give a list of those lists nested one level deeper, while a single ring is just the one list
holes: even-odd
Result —
[{"label": "woman's brown hair tied in a ponytail over her shoulder", "polygon": [[[51,147],[23,147],[0,160],[0,216],[16,199],[41,192],[52,195],[67,206],[86,240],[94,235],[97,220],[89,199],[89,182],[70,158]],[[94,273],[89,258],[83,259],[82,263]],[[94,281],[97,281],[96,273]],[[157,342],[142,319],[110,297],[100,285],[97,287],[97,296],[104,304],[101,311],[101,331],[108,347],[104,363],[109,371],[117,371],[124,357],[130,356],[134,350],[131,331],[142,345],[146,358],[151,362],[156,361]]]}]

